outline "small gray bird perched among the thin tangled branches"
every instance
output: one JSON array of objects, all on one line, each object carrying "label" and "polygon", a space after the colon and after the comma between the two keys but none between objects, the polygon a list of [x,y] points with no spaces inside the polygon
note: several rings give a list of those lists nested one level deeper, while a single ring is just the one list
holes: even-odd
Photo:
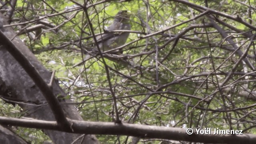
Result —
[{"label": "small gray bird perched among the thin tangled branches", "polygon": [[[131,25],[129,24],[130,15],[130,12],[128,12],[127,10],[122,10],[118,12],[115,16],[114,22],[106,29],[107,32],[96,37],[96,42],[98,43],[102,52],[117,48],[126,43],[130,32],[113,33],[111,31],[131,30]],[[120,54],[120,52],[118,52],[117,54]]]}]

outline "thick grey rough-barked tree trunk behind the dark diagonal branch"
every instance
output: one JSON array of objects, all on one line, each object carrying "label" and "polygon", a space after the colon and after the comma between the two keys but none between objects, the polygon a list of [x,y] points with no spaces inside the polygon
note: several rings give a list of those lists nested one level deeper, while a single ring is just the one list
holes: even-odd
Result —
[{"label": "thick grey rough-barked tree trunk behind the dark diagonal branch", "polygon": [[[42,66],[28,47],[16,36],[11,27],[4,27],[6,24],[6,18],[0,14],[0,30],[4,32],[9,39],[13,39],[12,42],[15,46],[22,51],[23,55],[34,65],[42,78],[49,83],[51,73]],[[6,49],[6,46],[1,45],[0,41],[0,80],[2,80],[0,84],[2,94],[6,96],[7,99],[11,98],[12,100],[19,101],[20,103],[18,103],[18,105],[22,107],[24,111],[27,111],[28,116],[38,120],[54,121],[54,115],[50,107],[44,105],[47,104],[44,96],[34,84],[33,80]],[[52,87],[56,96],[66,96],[57,82],[54,82]],[[71,101],[69,99],[62,99],[60,102]],[[64,104],[63,110],[66,117],[74,120],[82,120],[82,117],[73,105]],[[70,134],[52,130],[44,130],[44,132],[56,144],[70,144],[80,136],[80,134]],[[83,138],[77,140],[76,143],[80,143],[81,139]],[[83,143],[97,144],[98,140],[93,135],[86,135]]]}]

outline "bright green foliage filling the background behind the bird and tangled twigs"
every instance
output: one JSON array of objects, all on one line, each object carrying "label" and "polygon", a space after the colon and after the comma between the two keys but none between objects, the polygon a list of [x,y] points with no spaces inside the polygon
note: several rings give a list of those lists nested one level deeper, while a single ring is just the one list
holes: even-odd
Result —
[{"label": "bright green foliage filling the background behind the bird and tangled twigs", "polygon": [[[56,70],[59,83],[69,94],[67,98],[70,97],[73,102],[81,102],[76,107],[84,120],[114,121],[116,113],[113,106],[112,90],[114,96],[118,98],[118,114],[124,122],[172,126],[171,123],[174,121],[176,127],[186,124],[193,128],[202,126],[203,128],[218,127],[222,129],[245,129],[254,123],[255,115],[249,113],[252,108],[233,110],[252,104],[248,99],[238,96],[239,90],[244,88],[241,86],[242,84],[248,84],[248,88],[252,91],[255,89],[252,82],[246,81],[248,79],[245,79],[245,74],[236,73],[237,75],[232,75],[222,88],[219,87],[227,75],[232,72],[234,64],[240,57],[231,54],[233,52],[230,50],[233,48],[232,45],[213,26],[203,27],[211,22],[207,16],[180,24],[202,12],[185,4],[166,0],[152,0],[149,1],[149,4],[142,0],[106,1],[96,4],[98,1],[92,0],[86,5],[89,14],[86,17],[83,9],[78,8],[78,5],[70,1],[49,0],[47,2],[54,10],[46,6],[47,10],[37,11],[36,9],[42,9],[43,3],[36,0],[31,1],[35,10],[25,12],[24,9],[28,3],[22,1],[18,1],[17,6],[24,5],[20,14],[24,14],[24,17],[27,18],[26,21],[36,20],[39,16],[47,15],[49,22],[59,26],[56,33],[44,32],[39,40],[33,40],[24,35],[20,37],[26,39],[28,47],[48,70]],[[82,1],[78,2],[82,4]],[[90,6],[91,2],[95,6]],[[205,6],[202,0],[189,0],[189,2]],[[255,6],[254,1],[250,2],[251,6]],[[248,7],[232,0],[208,0],[208,7],[233,17],[239,16],[246,22],[255,20],[256,17],[255,12],[252,11],[250,18],[246,13]],[[74,8],[77,10],[71,12],[70,10]],[[113,17],[120,10],[132,12],[130,18],[132,30],[140,32],[140,34],[136,32],[130,34],[126,43],[133,43],[123,48],[123,54],[126,57],[120,59],[114,57],[115,61],[104,58],[109,67],[107,70],[102,58],[98,55],[84,64],[75,66],[82,62],[82,59],[88,58],[88,54],[82,54],[81,49],[75,43],[82,38],[82,49],[93,53],[92,31],[95,34],[103,33],[104,28],[112,23]],[[15,13],[14,17],[21,18],[20,14]],[[248,40],[242,33],[251,28],[241,21],[231,20],[220,14],[212,14],[212,16],[216,18],[214,19],[216,24],[234,40],[238,47],[241,46],[240,50],[244,52],[249,42],[242,45]],[[220,20],[230,27],[242,30],[242,32],[221,24]],[[90,28],[90,23],[93,29]],[[35,22],[29,24],[34,25]],[[176,24],[180,25],[175,26]],[[181,36],[178,35],[194,25],[200,26],[188,30]],[[168,30],[166,30],[167,28]],[[15,27],[15,29],[17,28]],[[253,31],[253,33],[255,32]],[[143,38],[147,34],[152,35]],[[173,47],[177,35],[179,40]],[[157,48],[158,53],[156,53]],[[248,54],[253,54],[252,48]],[[123,64],[120,62],[121,60],[126,60],[132,66]],[[250,61],[252,62],[252,60]],[[244,72],[243,66],[241,63],[239,67],[236,67],[235,72]],[[254,82],[253,79],[252,81]],[[228,86],[235,88],[233,91],[224,91],[224,88]],[[153,94],[154,92],[158,93]],[[171,92],[176,92],[176,94]],[[201,100],[183,94],[193,95]],[[141,105],[147,97],[149,98]],[[205,102],[205,99],[209,103]],[[11,110],[10,106],[6,105],[1,105],[1,108],[3,116],[19,117],[12,112],[16,108]],[[140,110],[136,111],[137,108]],[[225,110],[229,111],[225,112]],[[243,120],[247,123],[240,124],[238,119],[246,114],[249,116]],[[132,115],[137,117],[134,118]],[[231,116],[231,125],[227,120],[228,116]],[[40,131],[18,129],[17,132],[26,140],[29,140],[29,137],[22,134],[22,130],[34,136],[35,139],[31,141],[32,143],[49,140]],[[252,129],[246,132],[256,133]],[[114,143],[117,139],[116,136],[100,135],[97,137],[101,142],[106,143]],[[125,139],[125,136],[120,136],[121,142],[124,142]],[[130,139],[128,141],[130,142]]]}]

